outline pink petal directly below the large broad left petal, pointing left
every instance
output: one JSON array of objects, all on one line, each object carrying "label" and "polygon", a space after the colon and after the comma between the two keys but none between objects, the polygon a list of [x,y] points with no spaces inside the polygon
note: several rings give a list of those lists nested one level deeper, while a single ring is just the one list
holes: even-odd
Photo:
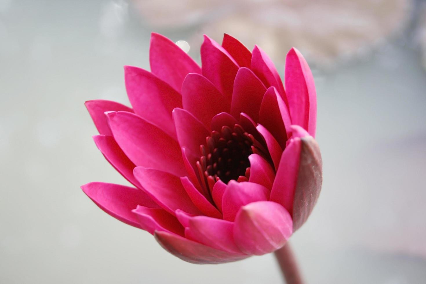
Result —
[{"label": "pink petal directly below the large broad left petal, pointing left", "polygon": [[133,174],[147,194],[171,214],[175,215],[176,209],[182,209],[190,214],[201,214],[177,176],[142,166],[135,167]]}]

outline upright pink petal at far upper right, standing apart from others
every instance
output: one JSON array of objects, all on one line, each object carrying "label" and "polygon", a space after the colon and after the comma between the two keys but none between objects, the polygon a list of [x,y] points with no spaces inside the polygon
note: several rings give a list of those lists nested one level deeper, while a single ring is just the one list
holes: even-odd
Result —
[{"label": "upright pink petal at far upper right, standing apart from others", "polygon": [[285,89],[291,120],[315,137],[317,92],[311,69],[302,54],[292,48],[285,59]]}]

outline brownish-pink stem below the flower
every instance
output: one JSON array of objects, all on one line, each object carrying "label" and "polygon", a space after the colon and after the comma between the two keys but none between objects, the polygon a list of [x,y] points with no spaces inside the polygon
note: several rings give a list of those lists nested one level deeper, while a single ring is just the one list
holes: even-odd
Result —
[{"label": "brownish-pink stem below the flower", "polygon": [[302,275],[300,275],[296,258],[289,243],[274,252],[279,268],[281,268],[287,284],[303,284]]}]

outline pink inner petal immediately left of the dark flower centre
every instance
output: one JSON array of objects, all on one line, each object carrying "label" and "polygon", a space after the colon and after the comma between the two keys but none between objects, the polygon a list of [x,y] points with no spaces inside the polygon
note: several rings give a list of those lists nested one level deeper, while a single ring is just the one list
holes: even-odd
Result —
[{"label": "pink inner petal immediately left of the dark flower centre", "polygon": [[201,157],[200,145],[206,143],[206,137],[210,136],[210,132],[201,121],[184,109],[173,109],[173,120],[179,145],[187,149],[188,161],[195,169],[196,162]]}]

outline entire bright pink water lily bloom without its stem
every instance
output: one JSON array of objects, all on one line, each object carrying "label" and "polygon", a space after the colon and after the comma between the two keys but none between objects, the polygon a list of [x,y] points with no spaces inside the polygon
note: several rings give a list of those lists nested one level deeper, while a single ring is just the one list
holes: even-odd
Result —
[{"label": "entire bright pink water lily bloom without its stem", "polygon": [[150,67],[124,68],[132,108],[86,102],[100,133],[96,145],[134,187],[92,182],[83,191],[192,263],[284,246],[322,183],[317,98],[305,59],[288,52],[283,85],[258,46],[250,52],[227,34],[222,46],[204,36],[200,68],[153,33]]}]

